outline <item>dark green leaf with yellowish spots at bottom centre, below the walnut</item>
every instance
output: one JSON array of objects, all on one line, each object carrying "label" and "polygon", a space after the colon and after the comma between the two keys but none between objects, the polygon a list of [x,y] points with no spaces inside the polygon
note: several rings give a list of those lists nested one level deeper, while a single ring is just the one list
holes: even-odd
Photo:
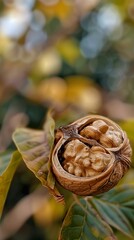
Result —
[{"label": "dark green leaf with yellowish spots at bottom centre, below the walnut", "polygon": [[69,209],[59,240],[115,240],[112,229],[85,199],[75,202]]}]

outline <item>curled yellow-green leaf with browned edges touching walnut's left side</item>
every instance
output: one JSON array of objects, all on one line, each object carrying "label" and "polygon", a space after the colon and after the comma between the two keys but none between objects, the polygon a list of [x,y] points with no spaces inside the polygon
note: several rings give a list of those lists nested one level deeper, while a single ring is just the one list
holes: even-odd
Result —
[{"label": "curled yellow-green leaf with browned edges touching walnut's left side", "polygon": [[[48,130],[47,130],[48,131]],[[28,128],[18,128],[13,134],[13,141],[22,155],[26,166],[41,181],[43,186],[49,188],[54,197],[62,201],[56,186],[55,179],[52,183],[48,181],[50,175],[50,145],[44,131],[32,130]]]}]

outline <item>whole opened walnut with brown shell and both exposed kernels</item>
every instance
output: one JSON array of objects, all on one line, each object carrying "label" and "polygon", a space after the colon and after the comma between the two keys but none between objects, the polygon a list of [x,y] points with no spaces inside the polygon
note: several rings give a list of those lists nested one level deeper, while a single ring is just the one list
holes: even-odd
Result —
[{"label": "whole opened walnut with brown shell and both exposed kernels", "polygon": [[118,183],[130,167],[131,154],[127,135],[116,123],[91,115],[57,130],[52,168],[65,189],[96,195]]}]

